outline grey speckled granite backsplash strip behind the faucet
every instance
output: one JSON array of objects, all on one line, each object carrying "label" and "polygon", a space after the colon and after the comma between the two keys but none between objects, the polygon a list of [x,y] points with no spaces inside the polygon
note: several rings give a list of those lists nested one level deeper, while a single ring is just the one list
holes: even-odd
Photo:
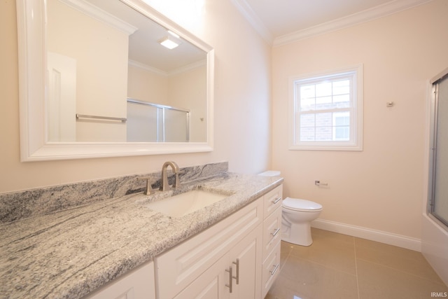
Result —
[{"label": "grey speckled granite backsplash strip behind the faucet", "polygon": [[[228,172],[228,162],[183,167],[179,179],[181,183],[186,183],[225,172]],[[137,179],[139,176],[149,176],[153,188],[160,187],[160,172],[153,172],[36,188],[15,193],[0,193],[0,223],[142,192],[146,186],[146,181]]]}]

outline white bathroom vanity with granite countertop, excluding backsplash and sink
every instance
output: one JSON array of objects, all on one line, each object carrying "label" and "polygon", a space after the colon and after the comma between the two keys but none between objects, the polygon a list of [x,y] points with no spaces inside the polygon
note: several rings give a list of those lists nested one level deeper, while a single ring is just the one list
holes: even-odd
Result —
[{"label": "white bathroom vanity with granite countertop, excluding backsplash and sink", "polygon": [[3,298],[264,298],[278,275],[283,179],[224,173],[228,197],[180,217],[137,193],[0,225]]}]

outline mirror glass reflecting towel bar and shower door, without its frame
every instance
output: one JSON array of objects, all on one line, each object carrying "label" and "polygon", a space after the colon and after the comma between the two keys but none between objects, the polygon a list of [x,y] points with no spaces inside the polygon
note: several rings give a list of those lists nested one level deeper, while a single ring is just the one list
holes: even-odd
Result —
[{"label": "mirror glass reflecting towel bar and shower door, without its frame", "polygon": [[118,0],[47,13],[48,141],[207,141],[207,52]]}]

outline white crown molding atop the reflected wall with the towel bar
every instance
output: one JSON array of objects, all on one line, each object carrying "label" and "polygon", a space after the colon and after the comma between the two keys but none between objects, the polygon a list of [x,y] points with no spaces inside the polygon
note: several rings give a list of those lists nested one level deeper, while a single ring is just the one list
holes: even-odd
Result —
[{"label": "white crown molding atop the reflected wall with the towel bar", "polygon": [[115,15],[111,15],[110,13],[103,11],[101,8],[98,8],[97,6],[94,6],[93,4],[90,4],[87,1],[84,0],[59,0],[59,1],[70,6],[71,8],[76,9],[77,11],[80,11],[81,13],[84,13],[85,15],[88,15],[96,20],[99,20],[100,22],[104,22],[107,25],[110,25],[122,32],[125,32],[125,34],[127,35],[133,34],[138,29],[137,27],[134,27],[129,23],[120,20]]}]

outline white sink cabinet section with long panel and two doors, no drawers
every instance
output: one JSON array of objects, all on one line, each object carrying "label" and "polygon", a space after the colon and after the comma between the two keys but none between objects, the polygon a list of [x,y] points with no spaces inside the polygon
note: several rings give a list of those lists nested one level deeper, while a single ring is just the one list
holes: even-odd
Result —
[{"label": "white sink cabinet section with long panel and two doors, no drawers", "polygon": [[260,295],[262,208],[262,200],[255,200],[155,258],[157,298],[255,298]]}]

